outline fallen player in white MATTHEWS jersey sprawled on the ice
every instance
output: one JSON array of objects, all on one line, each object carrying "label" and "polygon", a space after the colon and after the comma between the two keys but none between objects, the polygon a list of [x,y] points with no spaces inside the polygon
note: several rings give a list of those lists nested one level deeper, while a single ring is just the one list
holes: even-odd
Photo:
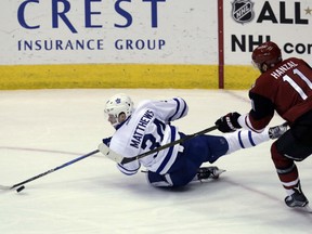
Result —
[{"label": "fallen player in white MATTHEWS jersey sprawled on the ice", "polygon": [[[104,112],[116,132],[103,139],[100,152],[110,150],[126,158],[157,148],[185,134],[171,125],[186,116],[188,106],[181,98],[166,101],[146,100],[134,108],[130,96],[119,93],[112,96]],[[218,178],[218,167],[202,167],[204,162],[214,162],[219,157],[240,148],[256,146],[278,138],[286,127],[277,126],[262,133],[242,130],[223,136],[203,134],[180,144],[151,154],[129,164],[118,164],[118,169],[128,176],[135,174],[141,165],[147,170],[147,180],[154,186],[183,186],[194,180]],[[104,145],[105,144],[105,145]],[[104,153],[103,153],[104,154]]]}]

